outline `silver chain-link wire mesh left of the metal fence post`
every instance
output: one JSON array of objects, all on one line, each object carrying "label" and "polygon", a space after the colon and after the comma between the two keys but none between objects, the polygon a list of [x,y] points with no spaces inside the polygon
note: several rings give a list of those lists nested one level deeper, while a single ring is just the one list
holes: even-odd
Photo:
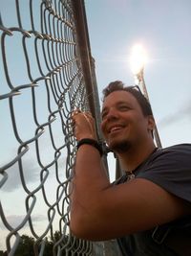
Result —
[{"label": "silver chain-link wire mesh left of the metal fence post", "polygon": [[69,228],[71,115],[76,107],[89,109],[73,3],[1,0],[0,6],[0,253],[92,255],[93,244]]}]

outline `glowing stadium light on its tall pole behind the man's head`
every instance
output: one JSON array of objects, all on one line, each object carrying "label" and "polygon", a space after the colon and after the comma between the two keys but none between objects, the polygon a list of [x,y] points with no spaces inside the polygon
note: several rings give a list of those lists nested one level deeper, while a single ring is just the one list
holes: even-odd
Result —
[{"label": "glowing stadium light on its tall pole behind the man's head", "polygon": [[[135,76],[136,84],[138,83],[138,86],[142,91],[143,95],[149,101],[149,95],[148,95],[146,84],[144,81],[144,66],[146,61],[147,61],[147,57],[143,47],[141,45],[135,45],[133,47],[132,56],[131,56],[132,71]],[[161,148],[161,142],[160,142],[159,131],[157,126],[154,129],[154,138],[157,146]]]}]

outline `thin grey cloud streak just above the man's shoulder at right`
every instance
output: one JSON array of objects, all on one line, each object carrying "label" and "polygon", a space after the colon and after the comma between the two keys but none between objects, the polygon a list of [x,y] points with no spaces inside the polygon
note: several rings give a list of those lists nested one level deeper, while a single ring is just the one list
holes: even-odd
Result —
[{"label": "thin grey cloud streak just above the man's shoulder at right", "polygon": [[160,128],[166,128],[168,126],[174,125],[180,122],[184,118],[191,117],[191,104],[188,103],[182,106],[179,110],[175,111],[173,114],[165,116],[159,120],[158,126]]}]

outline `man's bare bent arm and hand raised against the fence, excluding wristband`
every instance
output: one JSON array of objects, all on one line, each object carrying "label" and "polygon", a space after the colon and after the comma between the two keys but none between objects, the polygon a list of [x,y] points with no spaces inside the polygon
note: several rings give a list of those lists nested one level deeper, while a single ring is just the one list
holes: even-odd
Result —
[{"label": "man's bare bent arm and hand raised against the fence, excluding wristband", "polygon": [[[82,114],[74,121],[78,140],[89,135],[95,138],[87,128],[88,120],[82,122]],[[99,241],[122,237],[190,212],[188,203],[149,180],[135,178],[110,185],[99,151],[91,145],[78,149],[72,182],[71,229],[79,238]]]}]

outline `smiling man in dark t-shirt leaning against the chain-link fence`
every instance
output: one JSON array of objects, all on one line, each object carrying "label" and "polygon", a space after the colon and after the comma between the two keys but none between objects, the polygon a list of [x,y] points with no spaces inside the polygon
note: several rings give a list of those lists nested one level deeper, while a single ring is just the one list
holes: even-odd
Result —
[{"label": "smiling man in dark t-shirt leaning against the chain-link fence", "polygon": [[126,174],[110,184],[94,120],[74,112],[74,235],[92,241],[117,238],[123,255],[191,255],[191,145],[156,148],[151,106],[136,86],[111,82],[101,115],[106,143]]}]

